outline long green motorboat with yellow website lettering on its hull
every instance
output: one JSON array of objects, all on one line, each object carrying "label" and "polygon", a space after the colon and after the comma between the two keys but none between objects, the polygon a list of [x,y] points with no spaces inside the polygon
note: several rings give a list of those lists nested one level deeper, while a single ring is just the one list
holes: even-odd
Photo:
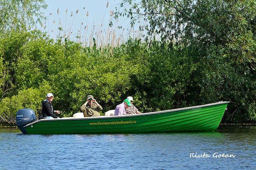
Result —
[{"label": "long green motorboat with yellow website lettering on its hull", "polygon": [[23,134],[213,132],[228,101],[134,115],[36,119],[31,109],[16,113]]}]

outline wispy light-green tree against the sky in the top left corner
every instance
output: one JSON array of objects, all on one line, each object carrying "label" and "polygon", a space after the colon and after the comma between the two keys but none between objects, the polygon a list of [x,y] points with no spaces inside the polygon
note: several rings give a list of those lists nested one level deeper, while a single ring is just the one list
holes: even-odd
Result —
[{"label": "wispy light-green tree against the sky in the top left corner", "polygon": [[0,0],[0,36],[7,30],[30,30],[45,18],[45,0]]}]

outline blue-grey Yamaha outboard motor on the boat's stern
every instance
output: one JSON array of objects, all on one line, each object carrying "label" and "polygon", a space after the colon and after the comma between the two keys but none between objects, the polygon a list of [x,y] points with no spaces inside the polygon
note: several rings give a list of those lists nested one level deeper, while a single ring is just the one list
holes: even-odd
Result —
[{"label": "blue-grey Yamaha outboard motor on the boat's stern", "polygon": [[36,114],[32,109],[20,109],[16,113],[16,125],[23,134],[27,134],[25,125],[36,121]]}]

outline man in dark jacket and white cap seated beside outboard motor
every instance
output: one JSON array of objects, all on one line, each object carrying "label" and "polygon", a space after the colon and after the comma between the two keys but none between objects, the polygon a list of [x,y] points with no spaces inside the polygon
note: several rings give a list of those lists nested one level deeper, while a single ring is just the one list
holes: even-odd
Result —
[{"label": "man in dark jacket and white cap seated beside outboard motor", "polygon": [[52,93],[47,93],[46,99],[42,101],[42,115],[43,119],[54,119],[59,118],[56,114],[60,114],[60,111],[54,111],[52,107],[53,95]]}]

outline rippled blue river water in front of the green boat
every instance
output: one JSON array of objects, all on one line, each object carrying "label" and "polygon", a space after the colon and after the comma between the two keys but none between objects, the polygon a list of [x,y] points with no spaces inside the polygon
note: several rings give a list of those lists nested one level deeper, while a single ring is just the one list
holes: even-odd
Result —
[{"label": "rippled blue river water in front of the green boat", "polygon": [[0,146],[0,170],[256,168],[253,125],[130,135],[22,135],[0,128]]}]

